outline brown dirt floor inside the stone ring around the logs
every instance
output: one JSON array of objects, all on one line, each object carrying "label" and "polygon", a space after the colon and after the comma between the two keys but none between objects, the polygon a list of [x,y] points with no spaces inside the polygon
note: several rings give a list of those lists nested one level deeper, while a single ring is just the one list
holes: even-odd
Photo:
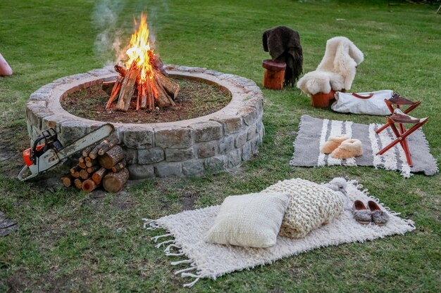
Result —
[{"label": "brown dirt floor inside the stone ring around the logs", "polygon": [[107,94],[101,86],[91,86],[75,91],[61,99],[63,108],[82,118],[104,122],[160,123],[192,119],[221,110],[230,103],[230,92],[212,84],[191,79],[173,78],[180,85],[176,105],[155,110],[135,110],[136,98],[132,98],[128,112],[105,110]]}]

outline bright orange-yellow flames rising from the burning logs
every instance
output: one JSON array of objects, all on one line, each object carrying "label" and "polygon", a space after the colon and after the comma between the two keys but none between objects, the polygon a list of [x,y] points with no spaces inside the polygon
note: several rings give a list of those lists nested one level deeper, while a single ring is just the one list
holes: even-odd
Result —
[{"label": "bright orange-yellow flames rising from the burning logs", "polygon": [[[135,20],[135,25],[137,25]],[[147,81],[147,77],[153,80],[153,70],[151,68],[151,60],[154,52],[150,46],[149,28],[147,27],[147,15],[141,13],[141,22],[139,22],[138,30],[132,34],[130,39],[130,48],[125,52],[129,60],[125,63],[127,68],[130,68],[135,62],[136,66],[141,70],[141,82]]]}]

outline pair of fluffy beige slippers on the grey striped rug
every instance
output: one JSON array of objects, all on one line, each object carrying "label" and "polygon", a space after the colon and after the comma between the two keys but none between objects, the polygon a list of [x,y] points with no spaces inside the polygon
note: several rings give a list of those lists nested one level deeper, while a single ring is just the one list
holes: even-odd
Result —
[{"label": "pair of fluffy beige slippers on the grey striped rug", "polygon": [[363,155],[361,141],[345,135],[330,136],[321,146],[320,151],[326,155],[330,154],[330,157],[335,159],[349,159]]}]

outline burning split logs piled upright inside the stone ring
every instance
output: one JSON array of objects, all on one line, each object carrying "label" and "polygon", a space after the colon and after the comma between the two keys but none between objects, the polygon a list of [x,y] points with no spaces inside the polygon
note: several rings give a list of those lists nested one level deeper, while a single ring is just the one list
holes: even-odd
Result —
[{"label": "burning split logs piled upright inside the stone ring", "polygon": [[[115,65],[118,72],[116,82],[104,82],[101,88],[109,94],[106,110],[111,110],[112,103],[118,98],[115,110],[127,112],[130,108],[132,98],[136,98],[136,110],[154,108],[165,108],[175,105],[175,98],[178,96],[180,86],[168,78],[168,74],[163,70],[161,60],[151,57],[154,62],[150,69],[144,74],[136,63],[132,63],[127,69],[120,65]],[[143,75],[147,75],[144,76]],[[112,89],[109,91],[109,89]]]}]

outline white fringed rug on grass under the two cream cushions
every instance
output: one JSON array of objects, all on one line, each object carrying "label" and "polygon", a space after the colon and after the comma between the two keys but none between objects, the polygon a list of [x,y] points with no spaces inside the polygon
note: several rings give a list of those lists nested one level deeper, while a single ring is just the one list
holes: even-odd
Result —
[{"label": "white fringed rug on grass under the two cream cushions", "polygon": [[[185,264],[175,271],[175,275],[194,278],[184,287],[192,287],[200,278],[216,279],[232,271],[272,263],[283,257],[295,256],[318,247],[365,242],[387,235],[404,234],[415,229],[413,221],[399,218],[397,213],[383,207],[378,198],[369,196],[367,190],[361,191],[362,187],[355,181],[348,183],[346,208],[332,223],[311,231],[302,239],[294,240],[279,236],[276,245],[269,248],[213,245],[204,242],[204,235],[218,213],[220,207],[218,205],[163,216],[155,221],[144,219],[144,228],[148,230],[163,228],[168,231],[167,234],[152,237],[151,240],[160,242],[156,247],[163,248],[166,256],[180,256],[171,258],[173,266]],[[354,200],[361,200],[365,204],[368,200],[375,200],[387,210],[390,220],[385,226],[359,224],[352,216]],[[184,256],[185,259],[182,260]]]}]

